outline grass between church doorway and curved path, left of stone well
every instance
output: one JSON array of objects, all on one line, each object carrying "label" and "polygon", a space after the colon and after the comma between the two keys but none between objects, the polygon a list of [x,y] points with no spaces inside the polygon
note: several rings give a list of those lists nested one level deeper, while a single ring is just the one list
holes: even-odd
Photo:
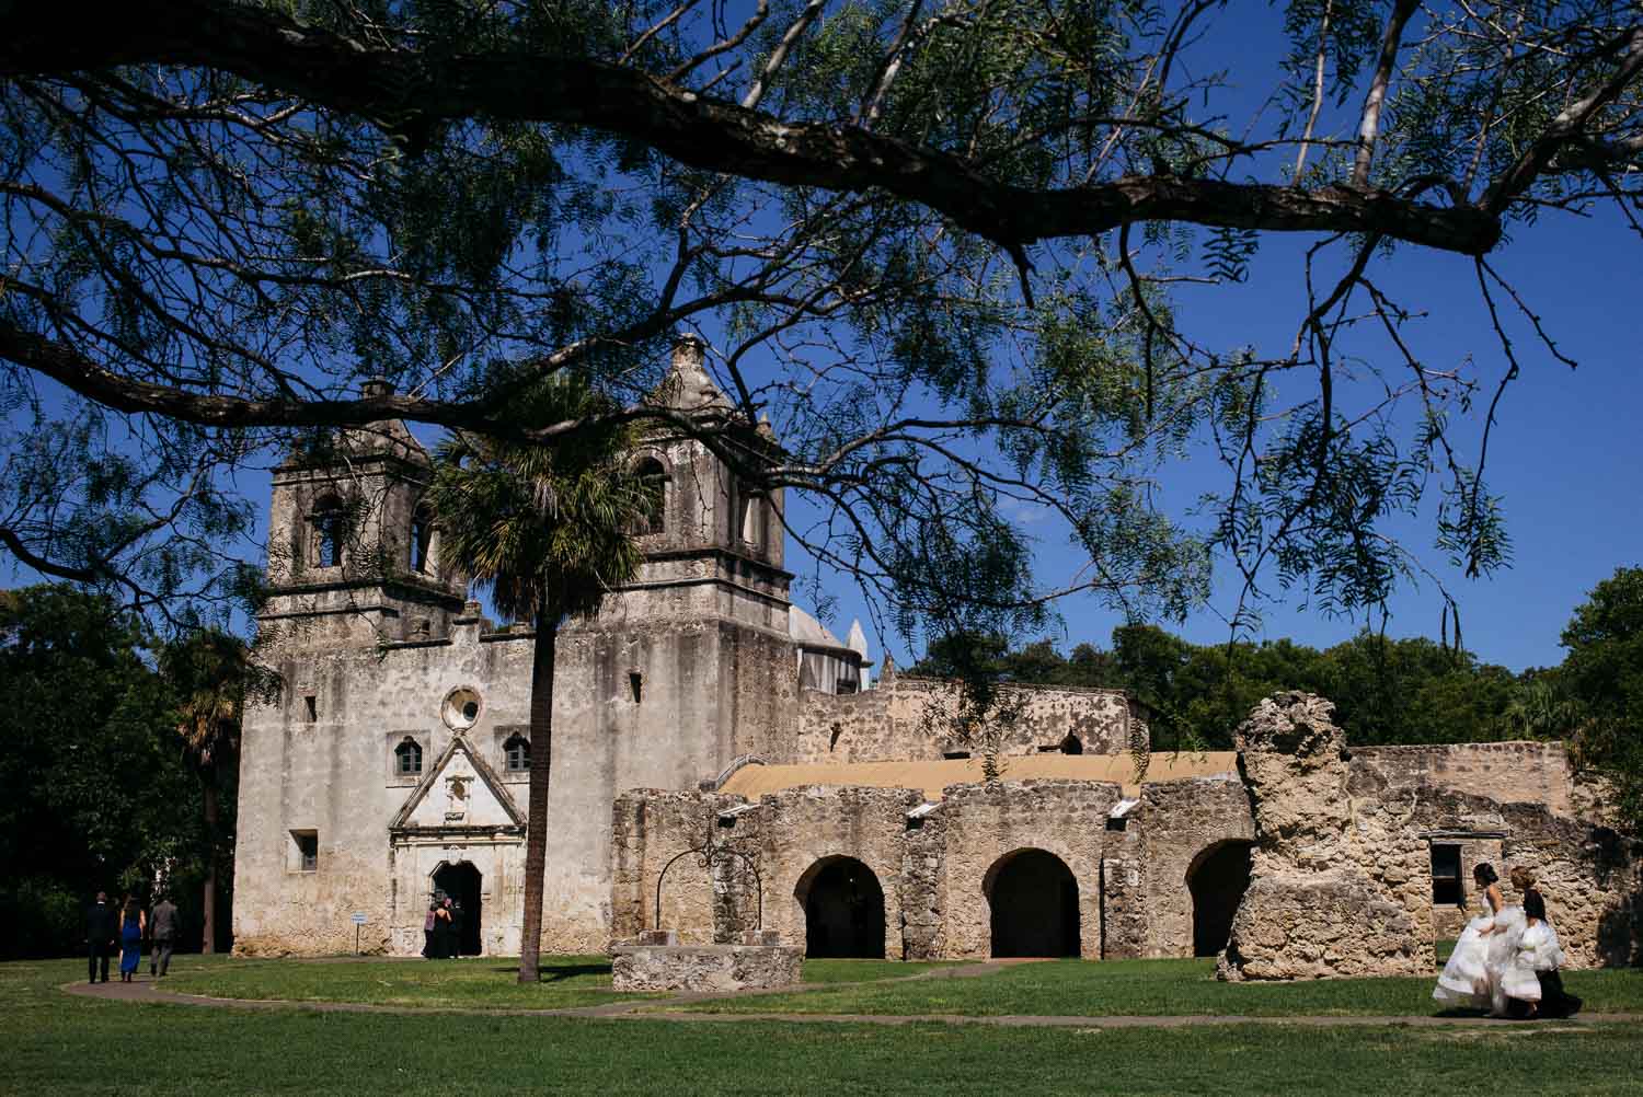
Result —
[{"label": "grass between church doorway and curved path, left of stone well", "polygon": [[[940,966],[945,964],[805,961],[805,982],[905,979]],[[516,971],[516,961],[491,956],[460,961],[338,957],[335,962],[187,957],[173,967],[163,985],[214,998],[365,1002],[406,1008],[559,1010],[656,997],[611,990],[611,962],[605,956],[545,957],[542,982],[534,987],[519,985]]]}]

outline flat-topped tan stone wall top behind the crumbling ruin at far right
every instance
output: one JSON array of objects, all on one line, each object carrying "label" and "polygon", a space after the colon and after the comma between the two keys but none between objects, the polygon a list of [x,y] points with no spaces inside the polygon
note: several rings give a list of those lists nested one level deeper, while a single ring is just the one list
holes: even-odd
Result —
[{"label": "flat-topped tan stone wall top behind the crumbling ruin at far right", "polygon": [[1354,770],[1374,769],[1392,792],[1426,785],[1574,815],[1574,778],[1561,742],[1352,747],[1351,755]]}]

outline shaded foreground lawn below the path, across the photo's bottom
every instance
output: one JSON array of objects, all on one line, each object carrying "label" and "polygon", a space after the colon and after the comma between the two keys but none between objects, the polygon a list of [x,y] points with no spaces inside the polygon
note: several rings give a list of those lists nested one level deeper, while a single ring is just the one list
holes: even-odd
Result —
[{"label": "shaded foreground lawn below the path, across the photo's bottom", "polygon": [[[186,957],[179,967],[223,964]],[[0,1092],[1357,1097],[1484,1084],[1585,1095],[1635,1094],[1643,1061],[1640,1025],[1163,1031],[251,1012],[95,1002],[58,989],[84,972],[84,961],[0,964]]]}]

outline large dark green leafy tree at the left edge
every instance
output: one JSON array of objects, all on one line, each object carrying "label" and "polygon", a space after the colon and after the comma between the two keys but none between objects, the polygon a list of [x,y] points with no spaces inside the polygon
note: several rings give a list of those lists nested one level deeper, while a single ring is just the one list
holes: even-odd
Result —
[{"label": "large dark green leafy tree at the left edge", "polygon": [[184,888],[210,851],[200,783],[148,645],[141,621],[108,599],[0,593],[0,688],[15,721],[0,749],[7,956],[77,951],[97,890],[146,898],[158,874],[192,911]]}]

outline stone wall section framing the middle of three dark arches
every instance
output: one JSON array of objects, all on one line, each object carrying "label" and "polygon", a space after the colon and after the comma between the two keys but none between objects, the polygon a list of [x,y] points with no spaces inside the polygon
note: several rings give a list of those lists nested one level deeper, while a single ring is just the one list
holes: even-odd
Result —
[{"label": "stone wall section framing the middle of three dark arches", "polygon": [[1101,956],[1101,857],[1106,821],[1121,787],[1106,782],[1029,780],[946,790],[946,857],[940,910],[946,956],[991,954],[989,872],[1024,849],[1055,854],[1078,884],[1079,954]]}]

